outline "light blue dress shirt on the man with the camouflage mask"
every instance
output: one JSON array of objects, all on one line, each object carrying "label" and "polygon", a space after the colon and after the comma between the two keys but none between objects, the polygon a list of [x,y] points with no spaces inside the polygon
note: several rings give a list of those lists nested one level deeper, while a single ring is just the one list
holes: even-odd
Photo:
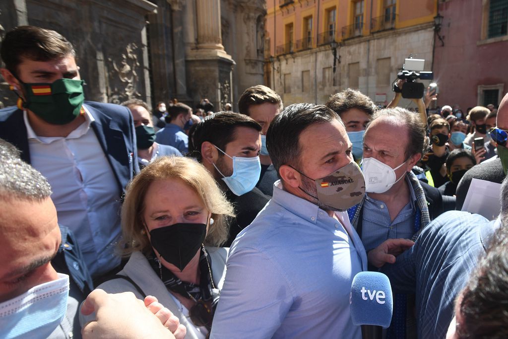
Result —
[{"label": "light blue dress shirt on the man with the camouflage mask", "polygon": [[346,212],[281,189],[231,246],[211,338],[361,338],[350,290],[367,269]]}]

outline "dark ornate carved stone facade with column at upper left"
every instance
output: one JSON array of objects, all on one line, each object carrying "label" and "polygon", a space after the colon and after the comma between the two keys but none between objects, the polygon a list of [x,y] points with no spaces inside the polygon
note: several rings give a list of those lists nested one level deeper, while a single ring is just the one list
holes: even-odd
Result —
[{"label": "dark ornate carved stone facade with column at upper left", "polygon": [[[261,0],[5,0],[0,34],[30,24],[75,46],[87,100],[176,98],[216,110],[263,83]],[[0,101],[15,103],[4,82]]]}]

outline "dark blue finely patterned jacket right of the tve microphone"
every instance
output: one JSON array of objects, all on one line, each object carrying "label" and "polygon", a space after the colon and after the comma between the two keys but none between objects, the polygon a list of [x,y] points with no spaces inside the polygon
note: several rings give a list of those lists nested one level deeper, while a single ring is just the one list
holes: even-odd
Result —
[{"label": "dark blue finely patterned jacket right of the tve microphone", "polygon": [[416,293],[419,338],[444,338],[454,314],[455,298],[469,273],[485,254],[496,221],[479,214],[449,211],[432,221],[415,245],[388,264],[395,293]]}]

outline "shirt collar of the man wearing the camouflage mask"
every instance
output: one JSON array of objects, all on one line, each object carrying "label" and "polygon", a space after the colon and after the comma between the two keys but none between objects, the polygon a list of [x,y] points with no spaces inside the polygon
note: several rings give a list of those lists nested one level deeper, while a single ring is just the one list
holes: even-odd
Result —
[{"label": "shirt collar of the man wearing the camouflage mask", "polygon": [[[282,188],[281,180],[275,181],[273,184],[272,200],[289,210],[298,217],[315,224],[317,222],[317,214],[319,213],[319,206],[311,203],[308,200],[297,197]],[[325,211],[326,212],[326,211]],[[328,215],[328,214],[327,214]]]}]

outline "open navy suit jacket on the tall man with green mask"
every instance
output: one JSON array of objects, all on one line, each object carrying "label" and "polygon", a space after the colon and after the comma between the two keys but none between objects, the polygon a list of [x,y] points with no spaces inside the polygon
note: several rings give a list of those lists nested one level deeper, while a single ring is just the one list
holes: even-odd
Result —
[{"label": "open navy suit jacket on the tall man with green mask", "polygon": [[[85,107],[95,121],[91,127],[115,175],[118,188],[125,186],[139,171],[134,121],[128,108],[85,101]],[[17,107],[0,110],[0,138],[9,141],[21,151],[21,159],[30,162],[30,150],[23,112]]]}]

